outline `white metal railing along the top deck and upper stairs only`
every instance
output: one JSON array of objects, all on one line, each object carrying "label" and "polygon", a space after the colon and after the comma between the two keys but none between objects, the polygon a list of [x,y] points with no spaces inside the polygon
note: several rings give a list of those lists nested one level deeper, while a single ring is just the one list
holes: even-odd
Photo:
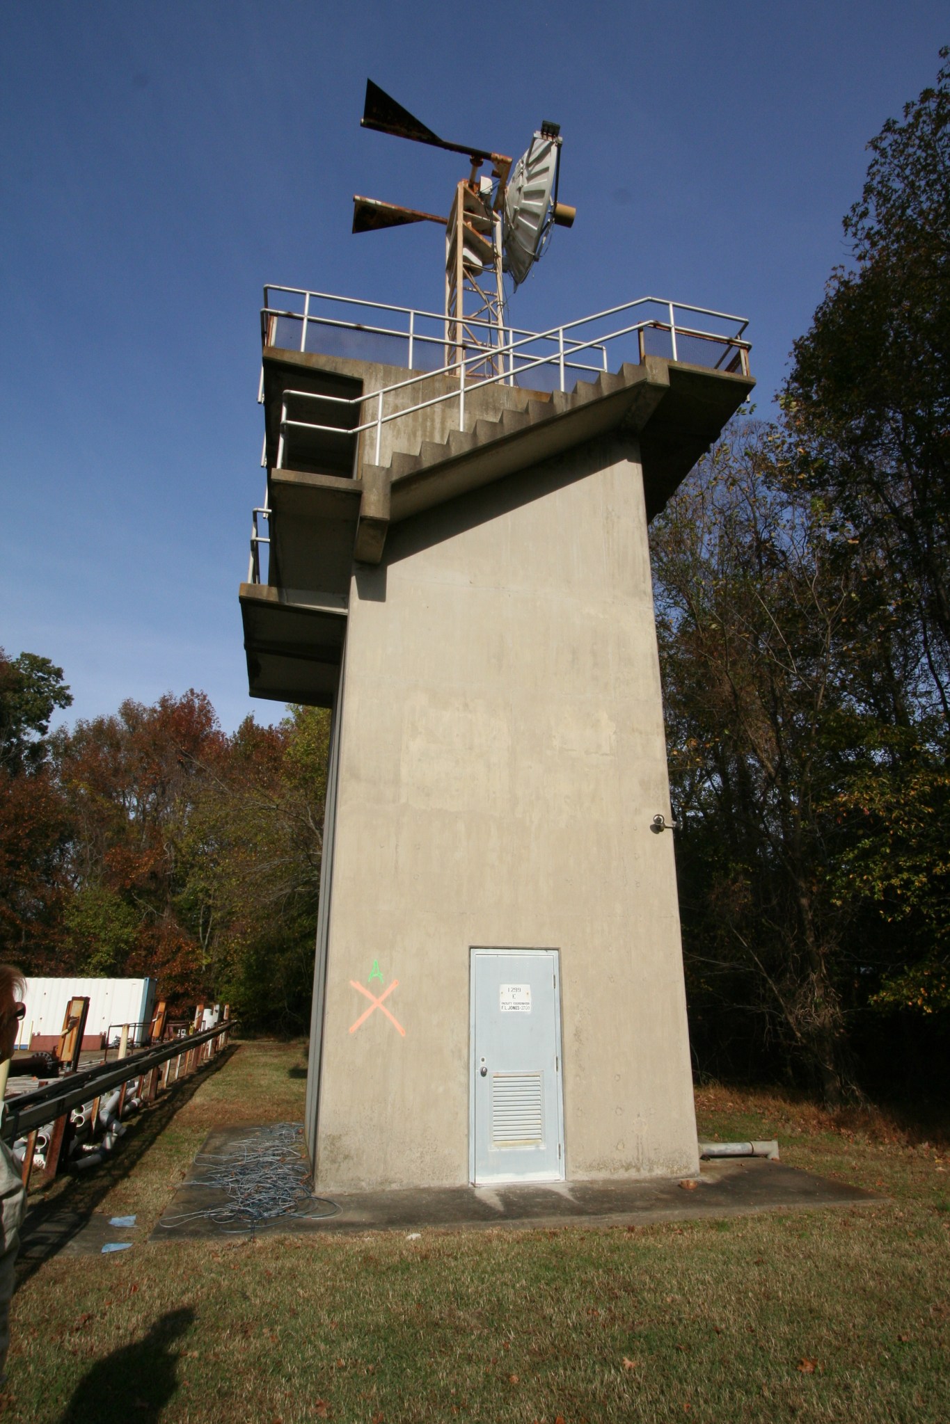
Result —
[{"label": "white metal railing along the top deck and upper stairs only", "polygon": [[[293,312],[289,309],[271,308],[271,292],[302,296],[303,310]],[[651,345],[651,337],[654,337],[658,332],[668,335],[669,353],[675,362],[684,359],[687,355],[696,357],[704,353],[715,355],[715,349],[718,347],[719,355],[715,360],[696,360],[695,363],[706,365],[712,370],[741,372],[743,376],[749,375],[749,350],[752,347],[751,343],[745,340],[745,330],[749,325],[745,318],[734,316],[728,312],[715,312],[711,308],[691,306],[685,302],[671,302],[654,296],[641,296],[634,302],[622,302],[618,306],[595,312],[593,316],[583,316],[574,322],[553,326],[547,332],[523,332],[516,328],[504,328],[499,332],[497,328],[490,328],[490,332],[499,333],[500,337],[500,340],[494,345],[473,346],[471,343],[461,343],[460,346],[454,346],[453,342],[447,342],[446,318],[437,316],[434,312],[419,312],[413,308],[363,302],[356,298],[338,298],[325,292],[308,292],[303,288],[265,286],[263,293],[265,306],[261,318],[262,340],[265,346],[279,343],[282,340],[279,323],[292,320],[298,322],[301,326],[301,352],[308,349],[308,337],[313,329],[320,332],[332,330],[336,333],[349,333],[348,339],[352,346],[352,355],[356,355],[356,346],[366,335],[375,339],[385,336],[389,340],[396,339],[399,342],[404,342],[410,370],[413,369],[413,359],[416,357],[420,342],[442,347],[443,356],[447,347],[451,347],[453,350],[451,359],[447,362],[443,360],[442,365],[436,367],[359,396],[328,396],[306,390],[286,390],[283,393],[281,412],[281,437],[276,459],[278,468],[282,467],[285,436],[289,430],[309,430],[315,433],[336,436],[348,434],[353,437],[366,430],[375,430],[375,460],[379,463],[382,430],[383,426],[390,422],[402,420],[419,410],[427,409],[429,406],[457,400],[457,429],[461,430],[464,429],[467,393],[491,384],[523,384],[524,376],[528,372],[531,373],[533,380],[533,384],[528,386],[528,389],[544,389],[544,384],[538,384],[538,380],[541,373],[546,372],[548,376],[553,376],[554,389],[564,392],[568,389],[568,373],[573,375],[575,372],[580,373],[587,370],[597,372],[600,375],[600,372],[608,370],[608,347],[620,357],[618,365],[628,356],[634,355],[637,362],[642,363],[645,356],[651,355],[648,352],[648,346]],[[357,308],[360,310],[369,308],[380,312],[396,312],[406,318],[406,330],[403,332],[402,329],[385,328],[375,323],[348,322],[342,318],[338,319],[325,315],[315,315],[312,308],[313,303],[319,302],[336,303],[343,308]],[[695,325],[695,322],[684,320],[682,316],[677,320],[677,313],[691,313],[692,318],[705,318],[711,323],[718,323],[719,329],[709,330],[701,328]],[[632,320],[622,320],[624,316],[631,315],[634,316]],[[442,333],[439,336],[432,333],[423,335],[419,329],[423,320],[439,322],[442,325]],[[607,323],[607,330],[602,329],[604,323]],[[490,326],[487,322],[477,320],[466,322],[464,325],[481,328]],[[587,332],[593,326],[597,329],[588,335]],[[541,350],[538,350],[538,346]],[[322,349],[325,355],[332,355],[332,352],[326,350],[325,343],[320,343],[319,349]],[[460,355],[454,355],[456,350],[459,350]],[[597,363],[593,365],[591,362],[578,360],[578,356],[584,353],[597,353]],[[338,352],[338,355],[343,355],[343,352]],[[659,355],[659,352],[655,355]],[[363,352],[362,359],[367,359],[366,352]],[[481,375],[480,370],[484,369],[486,362],[490,362],[496,367],[487,376]],[[395,365],[395,362],[390,363]],[[442,390],[434,396],[426,397],[426,383],[430,383],[432,389],[432,384],[439,377],[443,383],[450,382],[451,389]],[[456,382],[457,386],[454,384]],[[397,397],[396,393],[406,392],[412,386],[417,386],[424,399],[407,406],[395,404],[395,399],[402,399]],[[262,393],[263,372],[261,373],[261,394]],[[310,402],[322,406],[332,406],[343,416],[345,423],[322,424],[318,420],[291,420],[288,417],[288,397],[293,402]],[[390,409],[387,409],[387,403]],[[353,424],[346,423],[348,410],[352,410],[359,416],[363,407],[370,409],[372,414],[369,419],[357,419],[357,423]]]}]

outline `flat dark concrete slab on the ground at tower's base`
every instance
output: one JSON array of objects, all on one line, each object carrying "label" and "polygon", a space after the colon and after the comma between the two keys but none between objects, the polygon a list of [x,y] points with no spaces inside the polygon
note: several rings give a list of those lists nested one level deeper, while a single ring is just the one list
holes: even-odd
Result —
[{"label": "flat dark concrete slab on the ground at tower's base", "polygon": [[[198,1185],[202,1159],[226,1158],[229,1152],[235,1153],[235,1161],[238,1156],[244,1158],[248,1135],[248,1128],[226,1128],[208,1136],[192,1169],[195,1185],[179,1188],[151,1240],[226,1236],[235,1230],[248,1235],[249,1227],[241,1230],[236,1222],[218,1225],[214,1216],[226,1212],[228,1199],[219,1188]],[[880,1202],[882,1198],[872,1192],[843,1182],[813,1176],[781,1162],[746,1158],[704,1162],[694,1190],[681,1188],[678,1180],[659,1179],[345,1192],[332,1200],[303,1198],[293,1215],[282,1215],[259,1225],[255,1233],[645,1226],[651,1222]]]}]

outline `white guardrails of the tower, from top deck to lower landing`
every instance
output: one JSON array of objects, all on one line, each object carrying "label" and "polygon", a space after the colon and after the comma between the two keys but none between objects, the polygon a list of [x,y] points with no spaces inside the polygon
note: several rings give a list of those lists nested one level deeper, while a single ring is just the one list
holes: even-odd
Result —
[{"label": "white guardrails of the tower, from top deck to lower landing", "polygon": [[[385,424],[426,406],[457,400],[461,430],[466,394],[481,386],[573,390],[578,380],[594,379],[610,370],[611,362],[615,367],[624,362],[642,363],[648,355],[748,376],[752,349],[745,339],[748,325],[746,318],[729,312],[641,296],[593,316],[553,326],[547,332],[527,332],[517,326],[499,328],[479,318],[456,320],[447,319],[442,312],[333,296],[298,286],[268,285],[261,309],[261,340],[265,347],[348,356],[413,372],[406,380],[352,399],[305,390],[285,392],[276,467],[282,468],[283,464],[283,437],[288,430],[336,436],[343,431],[359,436],[373,430],[375,460],[379,463]],[[451,389],[427,396],[426,384],[432,390],[436,379],[442,384],[451,382]],[[393,397],[404,400],[402,393],[412,386],[419,387],[420,399],[414,404],[396,404]],[[343,423],[291,420],[288,397],[295,403],[313,402],[318,407],[336,407]],[[263,369],[258,399],[263,400]],[[350,407],[356,422],[346,422],[346,412],[339,407]],[[363,407],[369,414],[360,420]],[[266,464],[266,436],[261,464]],[[259,545],[269,540],[258,533],[258,517],[268,518],[268,514],[265,507],[254,511],[248,582],[259,582],[261,578]]]}]

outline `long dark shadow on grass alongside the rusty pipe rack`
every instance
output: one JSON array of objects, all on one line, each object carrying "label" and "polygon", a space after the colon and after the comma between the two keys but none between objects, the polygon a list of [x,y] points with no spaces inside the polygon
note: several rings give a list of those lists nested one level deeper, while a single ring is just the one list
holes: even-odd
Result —
[{"label": "long dark shadow on grass alongside the rusty pipe rack", "polygon": [[172,1084],[150,1108],[130,1118],[125,1124],[128,1131],[100,1166],[74,1176],[67,1169],[56,1179],[47,1196],[30,1202],[20,1233],[17,1289],[83,1230],[100,1202],[128,1176],[175,1114],[191,1102],[204,1082],[224,1068],[238,1047],[229,1044],[207,1067]]}]

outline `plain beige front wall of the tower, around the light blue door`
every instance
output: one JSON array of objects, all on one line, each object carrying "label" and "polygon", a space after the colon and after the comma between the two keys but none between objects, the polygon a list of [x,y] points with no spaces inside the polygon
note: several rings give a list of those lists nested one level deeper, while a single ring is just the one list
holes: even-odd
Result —
[{"label": "plain beige front wall of the tower, around the light blue door", "polygon": [[467,1180],[471,946],[561,951],[568,1180],[695,1171],[635,441],[395,527],[340,715],[319,1189]]}]

